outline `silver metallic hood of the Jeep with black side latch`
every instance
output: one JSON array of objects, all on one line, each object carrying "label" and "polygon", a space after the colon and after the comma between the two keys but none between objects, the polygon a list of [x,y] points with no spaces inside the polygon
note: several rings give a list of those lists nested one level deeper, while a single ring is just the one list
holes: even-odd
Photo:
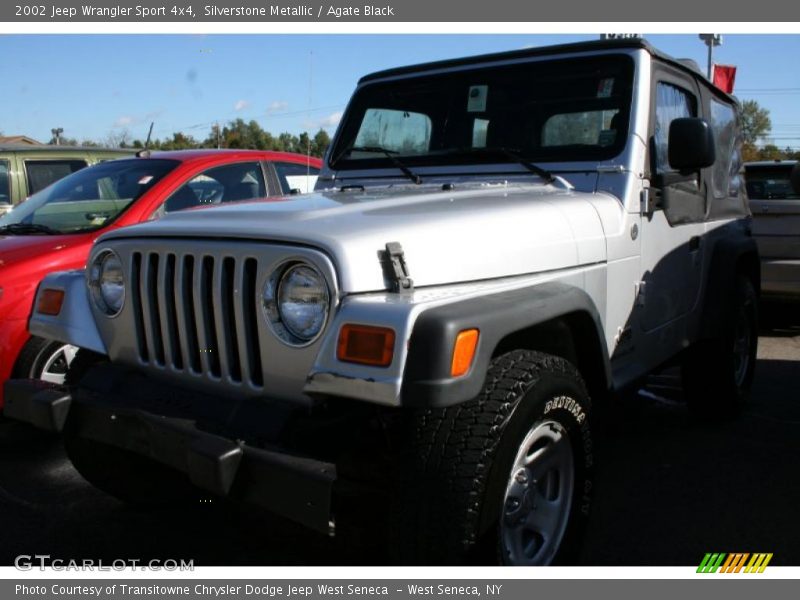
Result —
[{"label": "silver metallic hood of the Jeep with black side latch", "polygon": [[386,289],[378,252],[388,242],[402,244],[416,286],[605,261],[596,198],[543,184],[333,190],[173,213],[101,240],[243,238],[314,246],[332,258],[341,291],[365,292]]}]

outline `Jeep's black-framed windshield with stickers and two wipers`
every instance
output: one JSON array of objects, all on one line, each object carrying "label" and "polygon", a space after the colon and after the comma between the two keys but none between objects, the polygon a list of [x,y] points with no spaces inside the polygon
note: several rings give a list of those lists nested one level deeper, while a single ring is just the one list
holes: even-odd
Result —
[{"label": "Jeep's black-framed windshield with stickers and two wipers", "polygon": [[[625,147],[633,61],[606,55],[367,84],[330,154],[333,169],[608,159]],[[499,159],[499,160],[498,160]],[[396,163],[396,161],[395,161]]]}]

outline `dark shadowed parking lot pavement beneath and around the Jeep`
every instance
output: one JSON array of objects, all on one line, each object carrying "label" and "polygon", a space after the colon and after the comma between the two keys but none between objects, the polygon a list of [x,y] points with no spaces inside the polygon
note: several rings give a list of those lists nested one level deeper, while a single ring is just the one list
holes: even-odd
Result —
[{"label": "dark shadowed parking lot pavement beneath and around the Jeep", "polygon": [[[753,398],[739,418],[694,421],[670,372],[608,408],[581,564],[696,565],[706,552],[772,552],[773,565],[800,565],[800,311],[767,310]],[[224,504],[135,510],[89,486],[57,439],[0,422],[0,565],[20,554],[385,564],[379,539],[344,544]]]}]

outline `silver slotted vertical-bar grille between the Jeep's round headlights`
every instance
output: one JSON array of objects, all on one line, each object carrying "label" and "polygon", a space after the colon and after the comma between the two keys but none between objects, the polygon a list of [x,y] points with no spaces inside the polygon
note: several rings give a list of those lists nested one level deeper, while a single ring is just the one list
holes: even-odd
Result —
[{"label": "silver slotted vertical-bar grille between the Jeep's round headlights", "polygon": [[141,362],[263,386],[256,258],[137,250],[130,274]]}]

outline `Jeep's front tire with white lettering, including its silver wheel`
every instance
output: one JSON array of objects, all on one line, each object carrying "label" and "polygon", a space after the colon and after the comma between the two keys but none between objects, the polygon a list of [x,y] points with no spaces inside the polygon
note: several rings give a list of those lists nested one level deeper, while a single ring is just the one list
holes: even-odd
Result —
[{"label": "Jeep's front tire with white lettering, including its silver wheel", "polygon": [[568,563],[592,498],[590,401],[566,360],[496,358],[477,398],[417,419],[402,562]]}]

